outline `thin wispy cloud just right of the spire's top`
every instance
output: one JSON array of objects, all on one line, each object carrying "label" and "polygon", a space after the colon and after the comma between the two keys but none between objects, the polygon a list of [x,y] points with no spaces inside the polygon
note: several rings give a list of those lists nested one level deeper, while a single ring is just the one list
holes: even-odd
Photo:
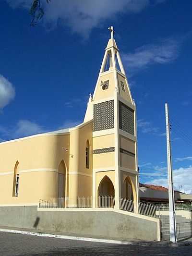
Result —
[{"label": "thin wispy cloud just right of the spire's top", "polygon": [[166,64],[177,59],[180,41],[168,38],[157,44],[148,44],[134,50],[133,53],[122,55],[129,75],[148,68],[152,64]]}]

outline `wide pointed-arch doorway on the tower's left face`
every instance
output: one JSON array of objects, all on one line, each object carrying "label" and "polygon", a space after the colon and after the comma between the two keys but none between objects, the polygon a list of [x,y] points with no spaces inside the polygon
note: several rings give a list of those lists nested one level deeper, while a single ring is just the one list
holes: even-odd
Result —
[{"label": "wide pointed-arch doorway on the tower's left face", "polygon": [[113,183],[105,176],[98,187],[98,207],[114,207],[115,189]]}]

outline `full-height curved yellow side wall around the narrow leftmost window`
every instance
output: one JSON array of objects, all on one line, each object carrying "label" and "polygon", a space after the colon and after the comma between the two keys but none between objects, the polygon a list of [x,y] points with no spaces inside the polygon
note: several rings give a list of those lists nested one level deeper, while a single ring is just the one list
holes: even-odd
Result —
[{"label": "full-height curved yellow side wall around the narrow leftmost window", "polygon": [[[0,204],[38,203],[58,196],[58,167],[69,168],[70,135],[42,135],[0,144]],[[19,195],[12,196],[13,171],[18,160]],[[10,173],[10,174],[7,174]],[[6,174],[6,175],[4,175]]]}]

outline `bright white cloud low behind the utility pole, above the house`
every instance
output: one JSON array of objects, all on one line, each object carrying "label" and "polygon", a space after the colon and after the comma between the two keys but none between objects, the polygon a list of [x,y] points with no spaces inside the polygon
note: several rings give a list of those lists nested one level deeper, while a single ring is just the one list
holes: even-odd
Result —
[{"label": "bright white cloud low behind the utility pole, above the house", "polygon": [[[168,178],[155,178],[149,181],[154,185],[168,187]],[[192,166],[173,170],[174,187],[181,192],[192,194]],[[182,188],[182,189],[180,189]]]}]

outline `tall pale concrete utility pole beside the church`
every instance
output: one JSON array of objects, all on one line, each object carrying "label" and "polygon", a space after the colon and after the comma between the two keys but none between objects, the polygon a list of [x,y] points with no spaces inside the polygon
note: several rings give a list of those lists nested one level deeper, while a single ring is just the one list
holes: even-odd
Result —
[{"label": "tall pale concrete utility pole beside the church", "polygon": [[169,232],[170,242],[177,243],[177,227],[175,217],[175,196],[173,190],[173,175],[172,175],[172,154],[170,142],[170,126],[168,116],[168,104],[165,104],[166,114],[166,130],[167,130],[167,155],[168,155],[168,203],[169,203]]}]

